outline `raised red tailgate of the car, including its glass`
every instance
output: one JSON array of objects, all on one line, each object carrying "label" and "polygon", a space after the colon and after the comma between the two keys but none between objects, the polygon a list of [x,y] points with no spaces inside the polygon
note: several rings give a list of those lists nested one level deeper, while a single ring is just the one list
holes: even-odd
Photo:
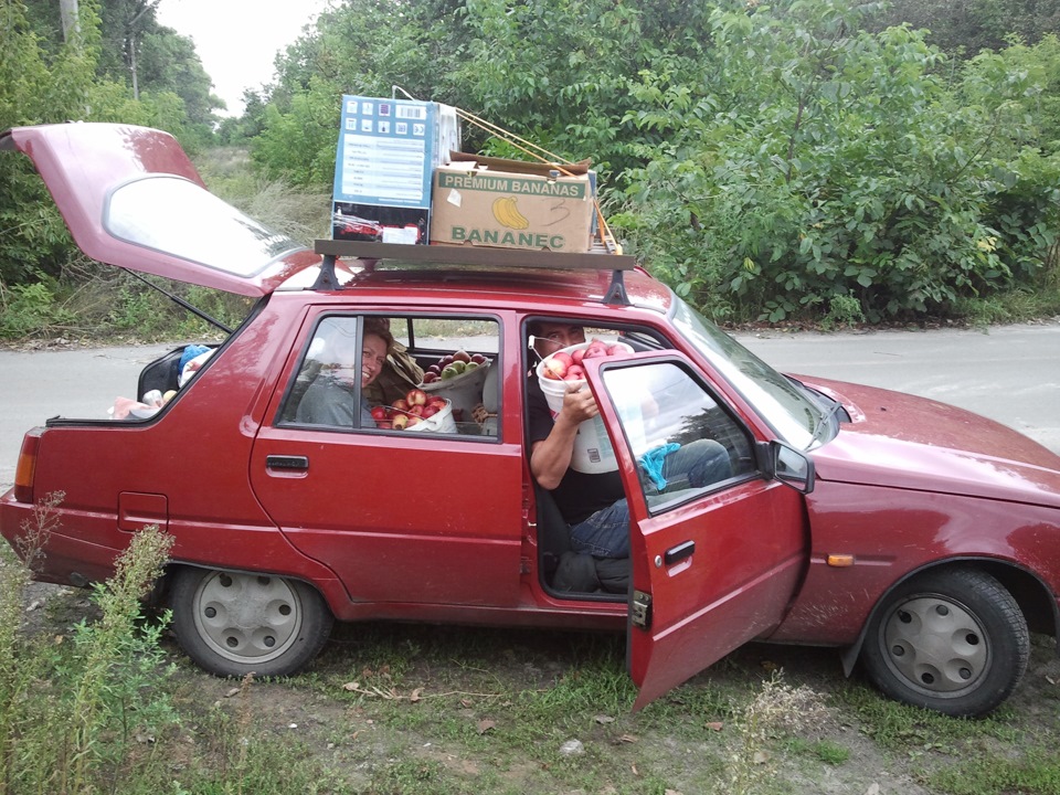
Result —
[{"label": "raised red tailgate of the car, including its glass", "polygon": [[116,124],[15,127],[74,242],[93,259],[246,296],[271,293],[319,255],[211,194],[168,132]]}]

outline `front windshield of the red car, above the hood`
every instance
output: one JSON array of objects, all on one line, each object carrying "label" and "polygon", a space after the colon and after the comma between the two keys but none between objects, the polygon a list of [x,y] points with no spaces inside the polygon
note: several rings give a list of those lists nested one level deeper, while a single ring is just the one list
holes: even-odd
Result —
[{"label": "front windshield of the red car, above the hood", "polygon": [[759,410],[783,441],[801,449],[813,445],[825,412],[804,389],[679,299],[675,303],[674,325]]}]

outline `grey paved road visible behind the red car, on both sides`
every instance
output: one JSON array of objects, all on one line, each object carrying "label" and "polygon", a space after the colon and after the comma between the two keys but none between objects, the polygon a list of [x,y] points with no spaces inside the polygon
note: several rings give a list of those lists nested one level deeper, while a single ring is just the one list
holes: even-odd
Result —
[{"label": "grey paved road visible behind the red car, on both sides", "polygon": [[[766,331],[736,338],[785,372],[953,403],[1060,453],[1060,322],[988,331]],[[0,487],[14,479],[26,430],[55,415],[105,418],[116,396],[135,396],[139,371],[168,349],[0,351]]]}]

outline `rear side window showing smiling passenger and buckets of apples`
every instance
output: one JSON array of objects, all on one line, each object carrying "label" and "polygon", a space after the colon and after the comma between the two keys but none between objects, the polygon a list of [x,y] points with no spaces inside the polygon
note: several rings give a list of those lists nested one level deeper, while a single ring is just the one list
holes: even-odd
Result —
[{"label": "rear side window showing smiling passenger and buckets of apples", "polygon": [[[328,316],[317,326],[280,413],[282,422],[343,425],[315,409],[326,385],[354,390],[342,381],[347,335],[356,335],[357,316]],[[375,360],[378,340],[382,357]],[[363,316],[363,341],[356,373],[365,411],[360,427],[372,433],[422,433],[497,438],[500,390],[497,356],[499,324],[494,318]],[[351,371],[352,373],[352,371]],[[330,394],[330,392],[329,392]],[[349,401],[340,393],[335,400]],[[359,405],[359,404],[358,404]]]}]

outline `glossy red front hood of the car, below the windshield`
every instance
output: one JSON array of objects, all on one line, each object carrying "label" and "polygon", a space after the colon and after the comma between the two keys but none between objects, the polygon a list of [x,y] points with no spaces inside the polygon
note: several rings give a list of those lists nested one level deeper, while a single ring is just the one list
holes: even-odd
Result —
[{"label": "glossy red front hood of the car, below the windshield", "polygon": [[901,392],[795,378],[850,414],[812,453],[823,480],[1060,507],[1060,456],[1000,423]]}]

